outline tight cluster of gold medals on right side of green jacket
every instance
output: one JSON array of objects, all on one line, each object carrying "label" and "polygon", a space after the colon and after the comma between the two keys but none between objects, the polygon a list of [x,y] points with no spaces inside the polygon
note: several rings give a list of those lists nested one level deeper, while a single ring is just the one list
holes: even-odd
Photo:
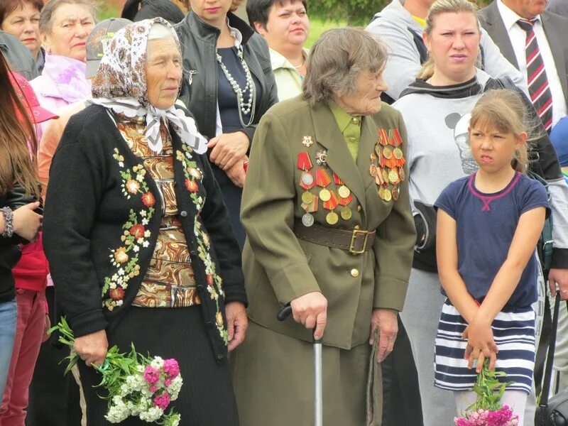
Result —
[{"label": "tight cluster of gold medals on right side of green jacket", "polygon": [[400,149],[402,144],[398,129],[381,129],[378,132],[375,153],[371,154],[369,173],[375,178],[378,196],[386,202],[398,200],[400,182],[405,180],[405,158],[403,150]]}]

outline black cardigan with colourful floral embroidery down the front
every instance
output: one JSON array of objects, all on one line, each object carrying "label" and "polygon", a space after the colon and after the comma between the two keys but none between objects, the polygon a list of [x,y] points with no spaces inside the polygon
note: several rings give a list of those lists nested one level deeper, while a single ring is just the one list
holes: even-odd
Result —
[{"label": "black cardigan with colourful floral embroidery down the front", "polygon": [[[247,303],[241,255],[207,157],[171,134],[179,219],[221,361],[224,304]],[[72,116],[51,165],[43,231],[58,303],[77,337],[111,331],[128,312],[155,248],[159,194],[107,109],[91,105]]]}]

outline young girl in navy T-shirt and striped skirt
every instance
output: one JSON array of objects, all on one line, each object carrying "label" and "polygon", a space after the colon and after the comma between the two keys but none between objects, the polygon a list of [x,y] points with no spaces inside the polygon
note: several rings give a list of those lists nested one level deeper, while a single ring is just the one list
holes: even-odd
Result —
[{"label": "young girl in navy T-shirt and striped skirt", "polygon": [[438,271],[447,295],[436,337],[435,386],[454,391],[461,414],[475,402],[476,373],[489,359],[491,369],[513,382],[502,402],[520,425],[535,364],[535,246],[549,212],[545,187],[523,174],[524,114],[518,94],[486,92],[469,124],[479,170],[452,182],[435,202]]}]

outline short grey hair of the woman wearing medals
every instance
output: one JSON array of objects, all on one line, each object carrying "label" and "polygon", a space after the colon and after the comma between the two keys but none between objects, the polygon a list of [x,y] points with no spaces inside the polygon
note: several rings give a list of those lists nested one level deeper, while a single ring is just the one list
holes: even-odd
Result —
[{"label": "short grey hair of the woman wearing medals", "polygon": [[382,71],[387,58],[386,45],[376,35],[359,28],[325,31],[307,58],[304,99],[315,107],[334,95],[352,94],[357,76]]}]

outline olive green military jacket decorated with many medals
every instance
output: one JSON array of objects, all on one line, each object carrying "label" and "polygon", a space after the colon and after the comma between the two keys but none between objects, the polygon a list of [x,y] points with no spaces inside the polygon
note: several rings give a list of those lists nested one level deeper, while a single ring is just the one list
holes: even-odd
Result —
[{"label": "olive green military jacket decorated with many medals", "polygon": [[[296,297],[321,291],[328,300],[323,343],[350,349],[368,340],[373,308],[403,309],[415,243],[408,173],[401,165],[405,151],[403,119],[387,104],[378,114],[363,117],[356,162],[327,105],[311,108],[296,97],[263,116],[241,205],[251,320],[311,341],[310,330],[291,317],[278,322],[276,312]],[[306,174],[312,175],[312,185]],[[343,186],[351,197],[339,190]],[[320,199],[323,189],[332,195],[331,203]],[[306,202],[312,198],[317,200]],[[334,222],[329,221],[332,207],[335,224],[328,223]],[[342,212],[346,207],[351,214]],[[302,223],[307,212],[322,226],[376,229],[372,249],[353,254],[297,238],[294,224]]]}]

